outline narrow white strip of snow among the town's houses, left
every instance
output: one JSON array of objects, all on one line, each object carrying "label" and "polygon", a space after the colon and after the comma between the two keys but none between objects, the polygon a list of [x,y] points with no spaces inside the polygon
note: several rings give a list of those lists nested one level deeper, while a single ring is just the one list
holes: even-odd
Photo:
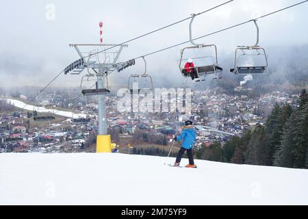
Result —
[{"label": "narrow white strip of snow among the town's houses, left", "polygon": [[[12,105],[14,105],[15,107],[18,107],[18,108],[23,108],[25,107],[26,103],[23,103],[22,101],[17,101],[17,100],[14,100],[14,99],[7,99],[8,103],[11,103]],[[44,107],[35,107],[34,108],[34,105],[27,105],[25,107],[25,110],[36,110],[37,112],[47,112],[47,113],[51,113],[53,114],[53,109],[46,109]],[[55,114],[56,115],[59,115],[59,116],[64,116],[64,117],[67,117],[67,118],[72,118],[72,112],[67,112],[67,111],[57,111],[57,110],[54,110]],[[83,117],[83,118],[86,118],[86,114],[73,114],[73,117],[74,118],[79,118],[79,117]]]}]

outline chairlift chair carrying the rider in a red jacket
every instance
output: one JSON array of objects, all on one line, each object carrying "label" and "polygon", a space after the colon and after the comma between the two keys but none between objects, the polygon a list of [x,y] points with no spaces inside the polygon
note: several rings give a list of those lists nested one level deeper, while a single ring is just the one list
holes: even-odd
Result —
[{"label": "chairlift chair carrying the rider in a red jacket", "polygon": [[214,56],[198,56],[198,57],[192,57],[192,60],[205,60],[205,59],[211,59],[211,63],[208,63],[206,61],[202,61],[202,65],[195,65],[194,69],[196,70],[196,74],[198,75],[198,80],[196,81],[205,81],[206,75],[214,74],[216,77],[214,79],[220,79],[221,77],[218,77],[217,73],[222,72],[222,68],[218,66],[218,55],[217,55],[217,47],[215,44],[196,44],[192,40],[192,23],[194,21],[194,17],[196,14],[192,14],[192,19],[190,20],[190,42],[193,44],[192,47],[185,47],[181,49],[181,58],[178,60],[179,64],[179,70],[181,71],[181,74],[184,77],[190,77],[189,74],[185,72],[185,68],[183,64],[185,65],[185,61],[188,59],[183,58],[183,53],[185,50],[188,49],[194,49],[194,50],[200,50],[200,49],[209,49],[209,47],[213,47],[215,50]]}]

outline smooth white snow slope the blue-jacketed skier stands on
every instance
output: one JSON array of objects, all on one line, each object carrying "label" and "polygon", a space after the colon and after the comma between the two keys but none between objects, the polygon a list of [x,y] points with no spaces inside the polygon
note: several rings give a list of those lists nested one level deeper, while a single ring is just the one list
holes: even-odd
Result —
[{"label": "smooth white snow slope the blue-jacketed skier stands on", "polygon": [[1,153],[0,205],[308,204],[308,170],[203,160],[196,160],[195,169],[175,168],[165,160],[116,153]]}]

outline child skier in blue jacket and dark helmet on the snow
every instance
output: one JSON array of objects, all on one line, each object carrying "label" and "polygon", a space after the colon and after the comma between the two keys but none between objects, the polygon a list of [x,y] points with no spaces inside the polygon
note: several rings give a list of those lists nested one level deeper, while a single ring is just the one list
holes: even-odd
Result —
[{"label": "child skier in blue jacket and dark helmet on the snow", "polygon": [[192,157],[192,146],[196,141],[196,132],[194,131],[194,126],[192,125],[192,121],[190,120],[185,121],[185,126],[183,127],[181,135],[175,136],[174,140],[175,141],[183,140],[181,144],[181,149],[177,154],[177,159],[175,160],[174,165],[179,166],[183,153],[187,151],[190,164],[186,165],[185,167],[196,168],[196,166],[194,165],[194,158]]}]

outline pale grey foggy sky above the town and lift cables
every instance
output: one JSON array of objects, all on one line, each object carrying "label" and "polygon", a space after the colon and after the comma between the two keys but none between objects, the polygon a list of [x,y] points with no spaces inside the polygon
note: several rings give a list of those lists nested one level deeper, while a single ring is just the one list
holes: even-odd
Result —
[{"label": "pale grey foggy sky above the town and lift cables", "polygon": [[[226,0],[227,1],[227,0]],[[45,86],[70,62],[79,58],[70,43],[99,43],[99,21],[103,22],[103,43],[120,43],[153,29],[223,3],[205,0],[101,1],[27,0],[2,1],[0,8],[0,86]],[[247,21],[299,1],[235,0],[228,5],[197,16],[193,36]],[[47,5],[55,5],[55,20],[47,19]],[[308,3],[262,18],[259,44],[263,47],[301,47],[308,44]],[[121,53],[126,61],[189,39],[189,21],[129,43]],[[216,44],[219,61],[233,60],[237,45],[255,43],[255,26],[248,23],[198,40]],[[189,45],[189,44],[186,44]],[[305,47],[307,48],[307,47]],[[148,73],[156,85],[181,80],[177,68],[179,50],[175,47],[146,57]],[[305,51],[302,51],[305,52]],[[269,52],[270,53],[270,52]],[[307,51],[305,52],[307,53]],[[279,52],[278,52],[279,54]],[[269,54],[270,56],[270,54]],[[130,73],[142,73],[142,60],[110,77],[112,84],[125,84]],[[232,67],[232,66],[230,66]],[[228,70],[227,70],[228,71]],[[80,76],[62,75],[52,86],[79,86]]]}]

